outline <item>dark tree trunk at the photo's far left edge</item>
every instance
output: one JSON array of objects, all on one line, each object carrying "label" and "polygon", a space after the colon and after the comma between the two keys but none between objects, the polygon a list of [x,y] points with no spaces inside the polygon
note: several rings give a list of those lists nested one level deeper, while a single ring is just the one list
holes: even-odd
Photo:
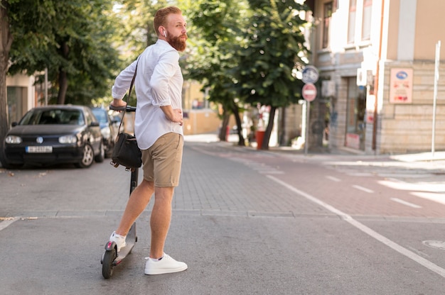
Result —
[{"label": "dark tree trunk at the photo's far left edge", "polygon": [[6,166],[3,154],[3,142],[9,130],[8,101],[6,96],[6,73],[9,69],[9,50],[13,38],[9,30],[8,1],[1,0],[0,4],[0,162]]}]

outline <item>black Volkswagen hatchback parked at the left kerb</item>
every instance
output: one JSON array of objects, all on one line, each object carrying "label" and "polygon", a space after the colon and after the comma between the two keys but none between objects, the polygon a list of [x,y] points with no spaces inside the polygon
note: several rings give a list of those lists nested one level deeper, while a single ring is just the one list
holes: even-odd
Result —
[{"label": "black Volkswagen hatchback parked at the left kerb", "polygon": [[87,106],[32,108],[4,140],[5,168],[74,163],[90,167],[104,161],[99,122]]}]

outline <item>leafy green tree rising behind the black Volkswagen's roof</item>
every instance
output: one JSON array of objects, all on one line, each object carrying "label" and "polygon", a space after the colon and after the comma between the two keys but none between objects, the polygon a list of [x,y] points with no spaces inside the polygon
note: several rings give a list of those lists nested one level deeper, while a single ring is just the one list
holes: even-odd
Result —
[{"label": "leafy green tree rising behind the black Volkswagen's roof", "polygon": [[[48,0],[41,4],[47,13],[44,30],[33,22],[11,28],[17,37],[29,37],[14,38],[9,73],[26,70],[33,74],[47,68],[52,103],[91,104],[109,91],[110,79],[119,67],[119,55],[111,45],[112,1]],[[14,16],[23,13],[21,6],[9,10]],[[23,18],[28,14],[32,11],[25,11]]]}]

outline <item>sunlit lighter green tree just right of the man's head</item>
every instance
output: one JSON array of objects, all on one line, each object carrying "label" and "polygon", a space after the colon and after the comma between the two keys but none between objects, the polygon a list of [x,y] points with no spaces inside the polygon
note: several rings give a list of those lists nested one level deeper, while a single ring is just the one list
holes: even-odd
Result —
[{"label": "sunlit lighter green tree just right of the man's head", "polygon": [[235,51],[247,21],[245,1],[195,1],[188,13],[193,23],[191,47],[186,60],[186,77],[203,83],[208,99],[223,106],[220,140],[225,140],[225,128],[231,114],[237,122],[239,145],[245,145],[240,119],[240,101],[233,89],[230,70],[237,64]]}]

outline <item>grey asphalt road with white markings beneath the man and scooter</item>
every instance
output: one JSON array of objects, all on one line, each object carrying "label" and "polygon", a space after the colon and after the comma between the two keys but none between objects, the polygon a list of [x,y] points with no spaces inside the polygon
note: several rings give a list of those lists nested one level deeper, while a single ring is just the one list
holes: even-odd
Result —
[{"label": "grey asphalt road with white markings beneath the man and scooter", "polygon": [[102,278],[124,169],[0,169],[0,293],[444,294],[444,162],[204,141],[186,141],[175,193],[166,252],[189,267],[177,274],[144,275],[149,205],[132,254]]}]

